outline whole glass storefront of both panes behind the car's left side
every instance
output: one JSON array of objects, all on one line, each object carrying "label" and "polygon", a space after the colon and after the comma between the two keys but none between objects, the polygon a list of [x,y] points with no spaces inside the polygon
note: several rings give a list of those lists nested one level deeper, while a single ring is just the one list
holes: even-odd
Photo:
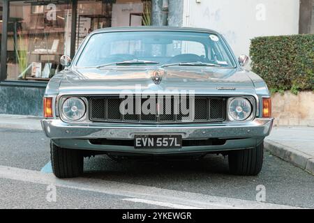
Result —
[{"label": "whole glass storefront of both panes behind the car's left side", "polygon": [[[9,1],[6,80],[47,82],[63,69],[60,56],[70,55],[71,50],[75,52],[91,31],[150,23],[151,1],[79,0],[75,3],[70,0]],[[73,6],[76,21],[72,18]],[[73,22],[76,23],[75,38],[71,38]]]}]

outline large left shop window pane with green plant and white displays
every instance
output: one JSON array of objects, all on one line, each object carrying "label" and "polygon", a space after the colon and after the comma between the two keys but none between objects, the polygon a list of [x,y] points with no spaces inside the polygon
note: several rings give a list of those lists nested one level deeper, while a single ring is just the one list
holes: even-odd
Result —
[{"label": "large left shop window pane with green plant and white displays", "polygon": [[61,70],[66,52],[71,4],[10,1],[7,45],[8,80],[47,81]]}]

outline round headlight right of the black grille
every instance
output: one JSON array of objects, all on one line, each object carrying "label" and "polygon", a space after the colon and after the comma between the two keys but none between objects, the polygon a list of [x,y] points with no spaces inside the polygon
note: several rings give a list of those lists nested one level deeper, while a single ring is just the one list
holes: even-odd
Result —
[{"label": "round headlight right of the black grille", "polygon": [[246,98],[233,98],[229,102],[229,118],[234,121],[246,120],[251,115],[252,106]]}]

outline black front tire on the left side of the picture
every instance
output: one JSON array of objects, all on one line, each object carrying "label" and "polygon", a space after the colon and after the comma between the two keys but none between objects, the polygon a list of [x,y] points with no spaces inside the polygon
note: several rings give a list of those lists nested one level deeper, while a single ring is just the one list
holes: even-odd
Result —
[{"label": "black front tire on the left side of the picture", "polygon": [[75,149],[60,148],[50,141],[52,171],[57,178],[73,178],[83,173],[82,152]]}]

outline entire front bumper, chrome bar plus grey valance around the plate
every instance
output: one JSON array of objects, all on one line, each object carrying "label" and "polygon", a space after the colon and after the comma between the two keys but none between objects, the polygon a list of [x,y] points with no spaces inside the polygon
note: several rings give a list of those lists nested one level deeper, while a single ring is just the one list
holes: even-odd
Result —
[{"label": "entire front bumper, chrome bar plus grey valance around the plate", "polygon": [[[59,119],[45,119],[41,125],[47,137],[64,148],[81,148],[128,153],[189,153],[253,148],[271,131],[273,118],[255,118],[247,123],[135,125],[127,123],[70,124]],[[135,134],[181,134],[182,139],[227,139],[217,146],[185,146],[174,149],[135,149],[133,146],[91,144],[89,139],[134,139]]]}]

